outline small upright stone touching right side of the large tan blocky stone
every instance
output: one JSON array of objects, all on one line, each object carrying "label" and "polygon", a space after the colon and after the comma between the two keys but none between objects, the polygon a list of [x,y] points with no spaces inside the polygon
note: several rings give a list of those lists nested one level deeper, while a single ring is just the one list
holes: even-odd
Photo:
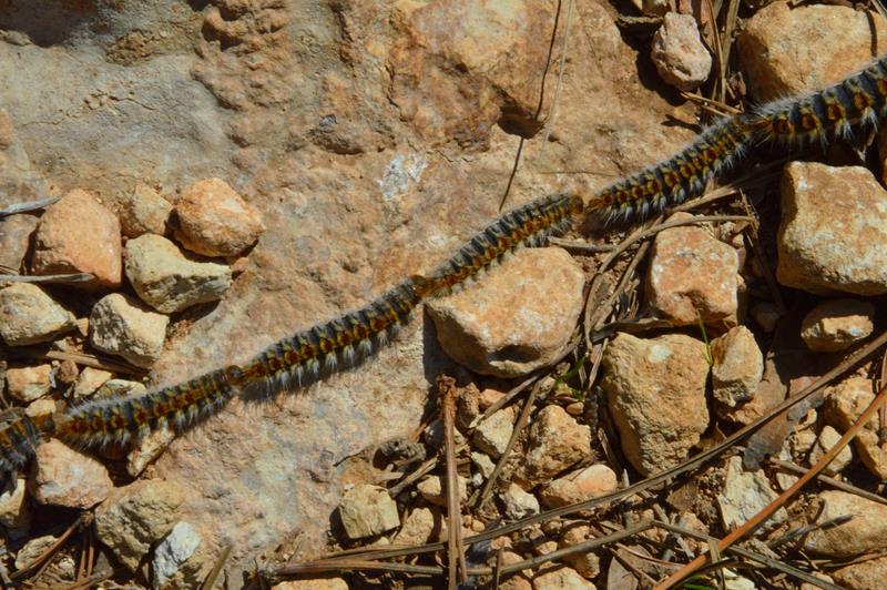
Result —
[{"label": "small upright stone touching right side of the large tan blocky stone", "polygon": [[714,398],[733,408],[752,399],[764,377],[764,355],[754,334],[735,326],[712,340],[712,389]]}]

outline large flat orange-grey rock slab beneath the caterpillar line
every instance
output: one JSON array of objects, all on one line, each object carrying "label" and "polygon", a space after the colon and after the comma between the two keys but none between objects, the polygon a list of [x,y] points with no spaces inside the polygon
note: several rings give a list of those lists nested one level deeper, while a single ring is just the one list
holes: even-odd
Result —
[{"label": "large flat orange-grey rock slab beneath the caterpillar line", "polygon": [[[536,113],[553,1],[16,8],[0,12],[0,206],[80,189],[120,212],[140,183],[174,202],[220,177],[265,224],[222,299],[173,318],[156,385],[242,363],[428,272],[496,218],[518,135],[524,164],[506,208],[591,192],[670,155],[695,124],[692,104],[640,82],[594,0],[575,4],[583,42],[571,43],[544,154],[551,92]],[[601,174],[552,174],[563,170]],[[214,562],[232,545],[225,574],[239,580],[295,531],[293,558],[318,555],[340,459],[407,436],[435,376],[453,369],[417,314],[360,370],[276,404],[235,401],[173,440],[149,470],[188,489],[179,511],[201,538],[190,559]],[[191,586],[183,576],[167,583]]]}]

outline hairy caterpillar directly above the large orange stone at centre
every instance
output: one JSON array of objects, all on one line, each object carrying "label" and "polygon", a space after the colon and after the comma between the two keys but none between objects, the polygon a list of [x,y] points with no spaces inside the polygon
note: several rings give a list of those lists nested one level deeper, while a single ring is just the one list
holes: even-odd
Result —
[{"label": "hairy caterpillar directly above the large orange stone at centre", "polygon": [[543,245],[547,236],[567,230],[583,206],[579,196],[557,194],[506,213],[431,273],[429,296],[446,295],[509,252]]}]

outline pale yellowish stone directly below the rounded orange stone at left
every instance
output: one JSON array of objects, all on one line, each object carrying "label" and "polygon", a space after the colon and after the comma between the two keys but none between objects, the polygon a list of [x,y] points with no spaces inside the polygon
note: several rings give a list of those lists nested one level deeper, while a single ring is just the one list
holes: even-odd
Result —
[{"label": "pale yellowish stone directly below the rounded orange stone at left", "polygon": [[218,301],[231,286],[230,267],[190,261],[153,234],[126,243],[126,277],[143,302],[165,314]]}]

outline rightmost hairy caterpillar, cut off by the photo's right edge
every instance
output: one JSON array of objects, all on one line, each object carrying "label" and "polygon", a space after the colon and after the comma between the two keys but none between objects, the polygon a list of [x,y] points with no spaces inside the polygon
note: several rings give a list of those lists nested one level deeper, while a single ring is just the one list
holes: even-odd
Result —
[{"label": "rightmost hairy caterpillar, cut off by the photo's right edge", "polygon": [[887,114],[887,55],[819,92],[765,104],[754,112],[759,142],[791,149],[849,140],[854,130],[877,128]]}]

